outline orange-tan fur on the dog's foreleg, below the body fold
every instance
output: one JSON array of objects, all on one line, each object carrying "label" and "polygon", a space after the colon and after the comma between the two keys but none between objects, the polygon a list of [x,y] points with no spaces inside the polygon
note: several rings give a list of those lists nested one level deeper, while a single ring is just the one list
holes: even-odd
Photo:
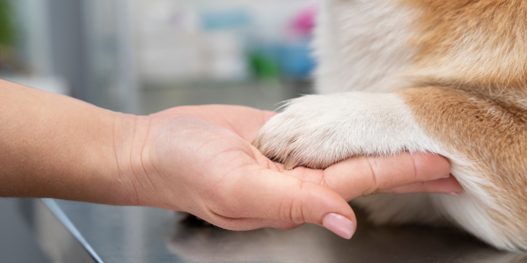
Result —
[{"label": "orange-tan fur on the dog's foreleg, below the body fold", "polygon": [[443,147],[475,160],[485,190],[502,209],[490,215],[508,236],[527,232],[527,115],[485,98],[440,87],[399,92]]}]

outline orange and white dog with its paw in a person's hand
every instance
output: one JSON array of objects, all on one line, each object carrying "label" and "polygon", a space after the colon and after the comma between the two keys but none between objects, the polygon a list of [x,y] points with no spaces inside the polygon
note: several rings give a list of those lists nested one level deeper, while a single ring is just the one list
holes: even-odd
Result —
[{"label": "orange and white dog with its paw in a person's hand", "polygon": [[527,1],[326,0],[314,44],[320,95],[291,100],[262,127],[263,154],[289,168],[443,155],[460,195],[354,202],[379,224],[447,220],[527,250]]}]

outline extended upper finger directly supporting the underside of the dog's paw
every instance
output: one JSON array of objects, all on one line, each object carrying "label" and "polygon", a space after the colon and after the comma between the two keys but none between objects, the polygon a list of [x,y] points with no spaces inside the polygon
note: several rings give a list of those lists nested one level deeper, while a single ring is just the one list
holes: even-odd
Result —
[{"label": "extended upper finger directly supporting the underside of the dog's paw", "polygon": [[377,191],[430,181],[450,174],[450,164],[438,155],[402,153],[397,156],[353,157],[313,170],[298,167],[285,173],[326,186],[346,200]]}]

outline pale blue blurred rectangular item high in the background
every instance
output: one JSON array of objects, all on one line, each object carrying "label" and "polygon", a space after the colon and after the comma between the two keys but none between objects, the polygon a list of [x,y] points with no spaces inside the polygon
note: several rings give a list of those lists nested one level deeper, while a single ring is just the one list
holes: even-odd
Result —
[{"label": "pale blue blurred rectangular item high in the background", "polygon": [[246,9],[231,9],[203,13],[201,15],[201,20],[203,23],[203,29],[218,30],[248,25],[251,22],[251,17]]}]

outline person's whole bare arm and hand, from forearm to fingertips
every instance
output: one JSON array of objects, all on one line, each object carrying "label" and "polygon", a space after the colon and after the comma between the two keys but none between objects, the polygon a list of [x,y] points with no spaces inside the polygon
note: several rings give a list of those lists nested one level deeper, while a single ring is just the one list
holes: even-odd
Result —
[{"label": "person's whole bare arm and hand, from forearm to fingertips", "polygon": [[274,115],[265,110],[182,106],[135,116],[5,80],[0,94],[2,197],[186,211],[231,230],[308,222],[350,238],[353,198],[461,191],[446,159],[433,154],[284,170],[250,145]]}]

